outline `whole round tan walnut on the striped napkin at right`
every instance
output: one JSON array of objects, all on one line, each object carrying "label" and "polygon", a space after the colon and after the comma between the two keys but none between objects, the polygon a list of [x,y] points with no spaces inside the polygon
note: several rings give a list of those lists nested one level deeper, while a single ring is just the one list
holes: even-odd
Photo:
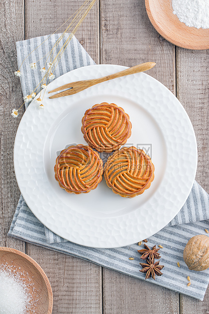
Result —
[{"label": "whole round tan walnut on the striped napkin at right", "polygon": [[192,237],[184,249],[184,261],[190,270],[205,270],[209,267],[209,237],[198,234]]}]

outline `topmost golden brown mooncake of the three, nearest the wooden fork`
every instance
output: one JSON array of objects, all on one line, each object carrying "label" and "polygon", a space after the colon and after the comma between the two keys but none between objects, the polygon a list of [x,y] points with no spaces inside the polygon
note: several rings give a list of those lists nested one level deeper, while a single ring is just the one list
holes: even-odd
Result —
[{"label": "topmost golden brown mooncake of the three, nearest the wooden fork", "polygon": [[82,118],[83,137],[98,151],[119,149],[131,136],[131,129],[129,115],[113,103],[96,104]]}]

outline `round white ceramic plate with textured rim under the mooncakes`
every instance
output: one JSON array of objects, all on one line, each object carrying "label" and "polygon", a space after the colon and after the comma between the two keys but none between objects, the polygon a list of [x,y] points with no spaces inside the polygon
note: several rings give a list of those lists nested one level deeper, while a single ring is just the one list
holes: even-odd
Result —
[{"label": "round white ceramic plate with textured rim under the mooncakes", "polygon": [[[48,90],[125,68],[78,68],[57,78]],[[68,194],[54,178],[57,155],[72,143],[86,144],[80,131],[82,116],[101,102],[116,103],[130,115],[133,128],[127,146],[151,153],[155,179],[133,199],[114,194],[104,178],[87,194]],[[175,217],[194,182],[197,146],[186,111],[165,86],[138,73],[72,96],[49,99],[46,93],[44,105],[40,110],[33,101],[24,113],[15,139],[14,165],[27,205],[49,229],[80,245],[114,248],[150,237]]]}]

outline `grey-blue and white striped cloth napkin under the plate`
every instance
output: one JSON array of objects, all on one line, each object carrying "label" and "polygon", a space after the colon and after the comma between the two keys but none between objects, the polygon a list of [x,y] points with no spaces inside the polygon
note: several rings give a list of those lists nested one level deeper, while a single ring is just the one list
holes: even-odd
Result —
[{"label": "grey-blue and white striped cloth napkin under the plate", "polygon": [[[32,52],[22,68],[21,85],[23,95],[30,94],[38,82],[40,82],[40,72],[32,71],[29,63],[35,62],[44,57],[57,41],[59,34],[55,34]],[[23,59],[38,45],[43,43],[48,36],[32,38],[27,41],[17,43],[18,66]],[[63,45],[66,37],[60,43]],[[59,49],[59,48],[58,48]],[[40,61],[40,68],[44,66],[46,59]],[[75,37],[67,46],[65,53],[56,68],[56,77],[77,67],[95,64],[88,53],[82,48]],[[163,229],[148,239],[149,247],[155,244],[162,245],[160,249],[160,265],[164,265],[163,276],[156,277],[156,280],[148,279],[152,283],[163,286],[174,291],[203,300],[208,281],[209,269],[204,271],[191,271],[187,268],[183,260],[183,250],[188,240],[196,234],[205,234],[204,229],[209,229],[209,195],[195,181],[191,193],[177,216]],[[64,254],[79,257],[98,265],[117,270],[139,279],[145,279],[145,274],[139,270],[140,255],[138,244],[116,249],[97,249],[77,245],[60,238],[50,231],[32,214],[22,196],[20,197],[15,215],[9,230],[11,237],[33,243]],[[139,239],[139,241],[142,239]],[[134,257],[134,260],[129,260]],[[180,267],[177,266],[180,263]],[[187,276],[191,278],[191,286],[187,287]]]}]

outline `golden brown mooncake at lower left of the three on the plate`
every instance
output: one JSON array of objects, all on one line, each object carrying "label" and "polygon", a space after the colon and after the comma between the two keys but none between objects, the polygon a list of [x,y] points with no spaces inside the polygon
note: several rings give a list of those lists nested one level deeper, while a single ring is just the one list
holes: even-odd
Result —
[{"label": "golden brown mooncake at lower left of the three on the plate", "polygon": [[88,193],[102,180],[103,162],[90,146],[78,144],[63,149],[56,159],[55,179],[68,193]]}]

